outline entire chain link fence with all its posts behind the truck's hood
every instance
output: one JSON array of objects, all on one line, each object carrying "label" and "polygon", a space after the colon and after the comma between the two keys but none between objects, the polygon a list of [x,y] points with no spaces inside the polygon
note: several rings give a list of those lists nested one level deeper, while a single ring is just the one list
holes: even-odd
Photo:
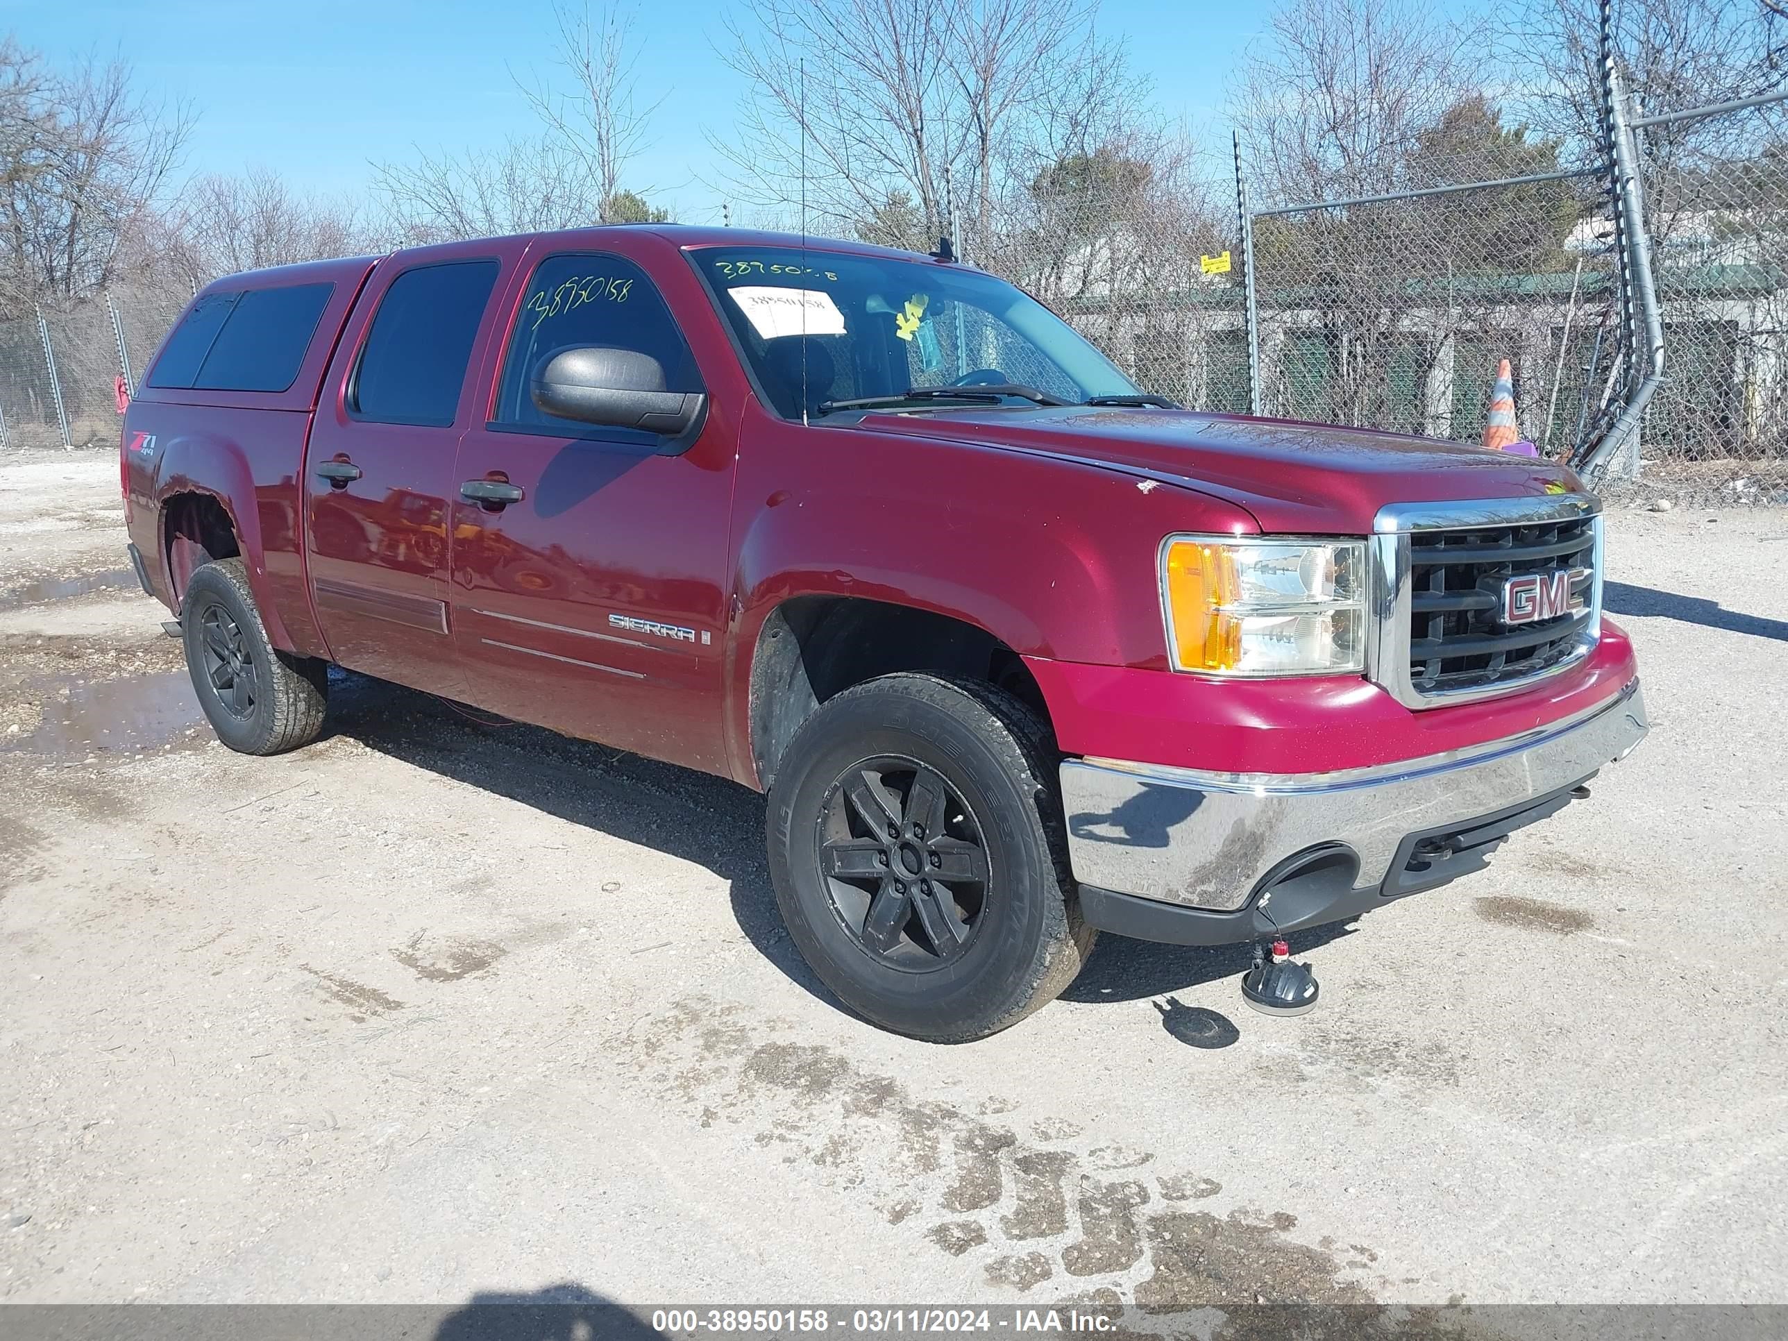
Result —
[{"label": "entire chain link fence with all its posts behind the truck's hood", "polygon": [[1575,156],[1443,125],[1382,191],[1257,206],[1237,138],[1227,225],[1207,182],[973,259],[1196,409],[1480,442],[1507,359],[1522,434],[1604,493],[1788,504],[1788,93],[1640,116],[1604,66]]}]

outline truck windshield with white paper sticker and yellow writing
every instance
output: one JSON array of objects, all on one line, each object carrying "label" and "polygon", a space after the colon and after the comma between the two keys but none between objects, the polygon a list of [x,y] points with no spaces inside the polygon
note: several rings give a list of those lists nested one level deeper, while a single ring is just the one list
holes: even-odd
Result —
[{"label": "truck windshield with white paper sticker and yellow writing", "polygon": [[[949,386],[991,388],[967,404],[1139,395],[1067,322],[978,270],[794,247],[692,257],[763,393],[789,418],[881,397],[899,406],[910,390],[926,392],[912,399],[915,409],[964,404],[932,390]],[[1003,386],[1017,393],[996,395]]]}]

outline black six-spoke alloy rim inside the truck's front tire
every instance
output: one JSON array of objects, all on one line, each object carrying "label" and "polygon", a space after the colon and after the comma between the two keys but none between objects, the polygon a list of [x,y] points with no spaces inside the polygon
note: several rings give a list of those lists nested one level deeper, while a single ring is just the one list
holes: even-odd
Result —
[{"label": "black six-spoke alloy rim inside the truck's front tire", "polygon": [[831,912],[864,953],[932,973],[973,944],[989,858],[962,796],[932,767],[880,755],[848,767],[819,812]]}]

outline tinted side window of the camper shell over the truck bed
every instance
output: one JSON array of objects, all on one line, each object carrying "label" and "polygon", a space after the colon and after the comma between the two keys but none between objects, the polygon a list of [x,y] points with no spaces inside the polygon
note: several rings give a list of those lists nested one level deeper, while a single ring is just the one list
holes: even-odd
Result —
[{"label": "tinted side window of the camper shell over the truck bed", "polygon": [[290,284],[202,299],[168,338],[148,384],[284,392],[299,377],[331,293],[334,284]]}]

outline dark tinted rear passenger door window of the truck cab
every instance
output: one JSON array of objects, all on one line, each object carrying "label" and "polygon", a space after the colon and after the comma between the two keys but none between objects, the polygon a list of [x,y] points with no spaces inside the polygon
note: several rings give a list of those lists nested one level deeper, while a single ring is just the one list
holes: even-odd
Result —
[{"label": "dark tinted rear passenger door window of the truck cab", "polygon": [[452,424],[497,270],[495,261],[454,261],[417,266],[392,281],[354,374],[354,418]]}]

